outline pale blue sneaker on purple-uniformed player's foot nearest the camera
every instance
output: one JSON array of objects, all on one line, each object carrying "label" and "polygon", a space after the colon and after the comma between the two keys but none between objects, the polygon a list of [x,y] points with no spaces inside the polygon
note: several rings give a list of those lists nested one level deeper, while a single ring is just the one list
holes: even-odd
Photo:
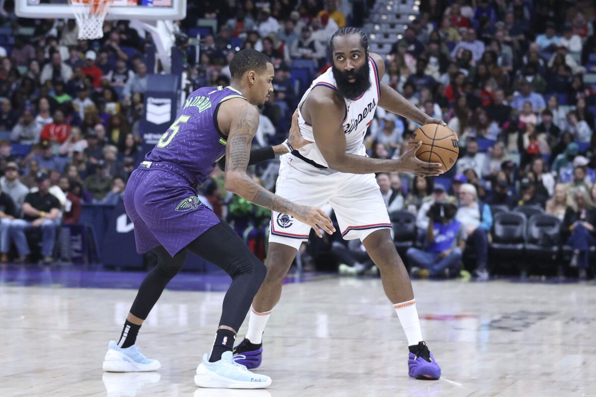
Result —
[{"label": "pale blue sneaker on purple-uniformed player's foot nearest the camera", "polygon": [[232,352],[224,352],[222,359],[209,362],[207,354],[197,367],[194,383],[198,387],[221,387],[222,389],[263,389],[271,385],[271,378],[253,374],[244,365],[238,364]]}]

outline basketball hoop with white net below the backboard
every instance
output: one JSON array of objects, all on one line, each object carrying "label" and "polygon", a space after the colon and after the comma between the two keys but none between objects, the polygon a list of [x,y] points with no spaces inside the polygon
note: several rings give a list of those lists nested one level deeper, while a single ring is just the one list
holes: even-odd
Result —
[{"label": "basketball hoop with white net below the backboard", "polygon": [[104,36],[104,20],[114,0],[69,0],[79,26],[79,40]]}]

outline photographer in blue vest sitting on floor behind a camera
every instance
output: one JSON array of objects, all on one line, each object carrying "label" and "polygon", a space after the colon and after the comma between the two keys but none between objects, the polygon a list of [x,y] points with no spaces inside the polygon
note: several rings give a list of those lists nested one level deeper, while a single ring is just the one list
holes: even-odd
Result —
[{"label": "photographer in blue vest sitting on floor behind a camera", "polygon": [[445,277],[457,275],[460,270],[461,248],[458,241],[464,233],[460,221],[454,219],[457,207],[451,203],[436,202],[427,210],[431,218],[426,228],[426,251],[408,248],[406,257],[413,277]]}]

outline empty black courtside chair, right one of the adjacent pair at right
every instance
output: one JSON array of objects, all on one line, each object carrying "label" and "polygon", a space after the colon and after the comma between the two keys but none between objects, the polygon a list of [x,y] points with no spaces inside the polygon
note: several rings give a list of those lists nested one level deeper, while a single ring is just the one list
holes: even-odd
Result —
[{"label": "empty black courtside chair, right one of the adjacent pair at right", "polygon": [[[548,261],[550,264],[557,261],[560,248],[559,218],[547,214],[534,214],[527,223],[526,257],[527,264]],[[532,258],[532,260],[530,260]]]}]

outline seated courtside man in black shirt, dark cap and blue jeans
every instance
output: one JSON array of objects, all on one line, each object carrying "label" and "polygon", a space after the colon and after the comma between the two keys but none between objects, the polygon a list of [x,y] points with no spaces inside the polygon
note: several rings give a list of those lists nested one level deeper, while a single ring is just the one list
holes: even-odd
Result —
[{"label": "seated courtside man in black shirt, dark cap and blue jeans", "polygon": [[23,204],[23,219],[15,219],[11,223],[11,235],[17,246],[18,262],[28,260],[30,254],[29,245],[25,231],[30,229],[41,229],[42,256],[44,264],[51,264],[54,259],[54,243],[56,239],[57,220],[60,216],[60,202],[48,192],[48,174],[39,172],[36,176],[38,192],[29,193]]}]

